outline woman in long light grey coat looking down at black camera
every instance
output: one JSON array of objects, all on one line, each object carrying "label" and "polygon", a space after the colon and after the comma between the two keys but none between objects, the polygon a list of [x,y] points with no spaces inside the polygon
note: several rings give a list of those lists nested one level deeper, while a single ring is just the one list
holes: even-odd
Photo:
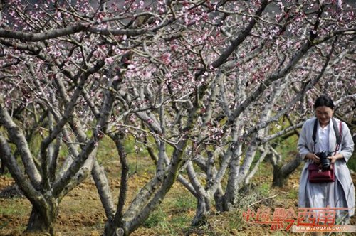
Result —
[{"label": "woman in long light grey coat looking down at black camera", "polygon": [[[328,95],[318,97],[314,109],[316,117],[305,121],[298,141],[298,151],[305,161],[300,176],[298,205],[300,208],[348,208],[336,211],[336,222],[348,224],[355,213],[355,186],[346,166],[354,149],[350,129],[333,117],[334,104]],[[339,130],[335,132],[335,129]],[[341,141],[337,145],[339,132]],[[335,182],[310,183],[308,166],[310,163],[320,164],[320,155],[315,154],[323,151],[329,153],[328,159],[334,164]]]}]

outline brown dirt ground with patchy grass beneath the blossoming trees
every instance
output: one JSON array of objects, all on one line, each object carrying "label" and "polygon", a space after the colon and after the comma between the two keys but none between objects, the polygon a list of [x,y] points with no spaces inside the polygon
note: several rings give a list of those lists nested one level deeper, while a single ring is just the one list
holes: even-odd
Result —
[{"label": "brown dirt ground with patchy grass beneath the blossoming trees", "polygon": [[[254,210],[258,208],[293,208],[297,210],[295,193],[298,193],[298,178],[298,173],[293,174],[285,187],[271,188],[268,194],[260,201],[253,203],[250,208]],[[355,173],[352,174],[352,178],[355,182]],[[137,186],[142,186],[147,180],[148,176],[132,176],[129,192],[135,193],[138,190]],[[257,181],[259,183],[271,183],[271,178],[259,176]],[[112,179],[110,185],[112,189],[115,189],[117,195],[120,186],[118,178]],[[0,235],[21,235],[21,232],[26,229],[31,211],[31,204],[26,198],[18,195],[19,191],[16,191],[13,186],[14,181],[11,177],[0,176]],[[167,198],[174,198],[179,192],[182,192],[182,186],[175,183]],[[164,210],[167,211],[164,218],[167,220],[165,227],[162,227],[162,222],[159,222],[157,227],[140,227],[132,235],[292,235],[283,230],[271,231],[270,225],[248,225],[246,222],[242,222],[243,210],[230,213],[216,213],[212,210],[211,218],[204,227],[184,225],[179,231],[172,232],[172,229],[169,229],[169,222],[172,221],[169,220],[172,220],[174,215],[179,213],[179,209],[169,207],[164,208]],[[184,214],[188,219],[192,219],[194,208],[187,208]],[[234,218],[236,220],[231,220]],[[98,193],[95,191],[95,184],[88,179],[63,198],[56,220],[56,235],[101,235],[105,220],[105,213]],[[355,225],[355,217],[352,218],[351,223]],[[159,227],[159,225],[161,226]]]}]

